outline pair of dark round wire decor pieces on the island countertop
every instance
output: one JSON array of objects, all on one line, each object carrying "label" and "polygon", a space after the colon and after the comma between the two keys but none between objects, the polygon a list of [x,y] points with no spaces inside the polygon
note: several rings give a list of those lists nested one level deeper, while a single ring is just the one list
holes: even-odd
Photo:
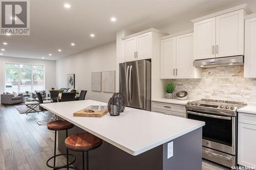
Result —
[{"label": "pair of dark round wire decor pieces on the island countertop", "polygon": [[108,110],[111,116],[118,116],[125,109],[125,101],[122,93],[114,93],[108,103]]}]

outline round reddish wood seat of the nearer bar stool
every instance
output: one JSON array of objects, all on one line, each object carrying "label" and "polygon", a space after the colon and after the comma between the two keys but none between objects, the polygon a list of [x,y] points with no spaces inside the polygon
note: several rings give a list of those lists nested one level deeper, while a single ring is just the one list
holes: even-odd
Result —
[{"label": "round reddish wood seat of the nearer bar stool", "polygon": [[71,150],[90,150],[101,145],[102,139],[89,132],[85,132],[67,137],[65,144]]}]

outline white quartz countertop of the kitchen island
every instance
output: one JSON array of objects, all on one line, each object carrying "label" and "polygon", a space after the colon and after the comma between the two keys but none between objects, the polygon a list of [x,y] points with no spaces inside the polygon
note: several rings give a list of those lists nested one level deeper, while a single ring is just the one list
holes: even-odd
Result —
[{"label": "white quartz countertop of the kitchen island", "polygon": [[119,116],[75,117],[73,113],[90,105],[106,105],[92,100],[41,104],[42,107],[95,136],[131,154],[139,155],[167,141],[205,125],[204,122],[126,107]]}]

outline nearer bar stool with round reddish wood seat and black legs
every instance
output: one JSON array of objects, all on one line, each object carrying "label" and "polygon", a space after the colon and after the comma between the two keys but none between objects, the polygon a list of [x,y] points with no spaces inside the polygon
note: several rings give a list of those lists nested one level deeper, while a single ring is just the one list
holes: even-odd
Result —
[{"label": "nearer bar stool with round reddish wood seat and black legs", "polygon": [[102,144],[102,139],[94,136],[89,132],[78,133],[71,135],[66,138],[65,144],[67,149],[75,152],[82,152],[82,169],[85,170],[84,167],[84,152],[86,152],[87,157],[87,170],[89,170],[89,156],[88,152],[94,150]]}]

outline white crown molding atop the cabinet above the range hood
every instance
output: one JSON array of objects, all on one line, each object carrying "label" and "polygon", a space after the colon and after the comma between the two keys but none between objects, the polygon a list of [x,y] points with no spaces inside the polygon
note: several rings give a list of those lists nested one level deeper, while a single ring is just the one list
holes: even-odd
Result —
[{"label": "white crown molding atop the cabinet above the range hood", "polygon": [[252,13],[251,9],[249,8],[249,6],[247,4],[242,4],[242,5],[239,5],[239,6],[236,6],[236,7],[228,8],[228,9],[225,9],[225,10],[222,10],[222,11],[219,11],[219,12],[215,12],[215,13],[212,13],[212,14],[209,14],[209,15],[205,15],[205,16],[202,16],[202,17],[199,17],[199,18],[192,19],[191,22],[195,23],[195,22],[198,22],[198,21],[201,21],[201,20],[216,17],[216,16],[219,16],[219,15],[223,15],[223,14],[233,12],[233,11],[237,11],[237,10],[241,10],[241,9],[244,9],[247,14]]}]

